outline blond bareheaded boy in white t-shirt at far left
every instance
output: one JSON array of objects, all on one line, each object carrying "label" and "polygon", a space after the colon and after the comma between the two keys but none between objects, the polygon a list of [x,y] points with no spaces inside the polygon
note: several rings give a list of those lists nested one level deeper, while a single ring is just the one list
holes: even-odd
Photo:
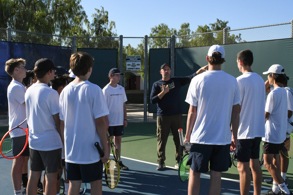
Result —
[{"label": "blond bareheaded boy in white t-shirt at far left", "polygon": [[[12,81],[7,88],[9,129],[12,129],[26,119],[24,99],[26,88],[23,86],[23,84],[21,84],[23,78],[26,77],[25,60],[22,58],[8,60],[5,65],[5,71],[12,77]],[[23,125],[21,125],[21,127],[25,129],[26,126],[27,122],[24,122]],[[17,137],[12,139],[17,139]],[[25,151],[21,154],[21,156],[13,159],[11,177],[14,194],[25,193],[23,187],[21,186],[21,180],[22,169],[24,165],[26,165],[26,170],[28,168],[28,145],[26,146]]]}]

